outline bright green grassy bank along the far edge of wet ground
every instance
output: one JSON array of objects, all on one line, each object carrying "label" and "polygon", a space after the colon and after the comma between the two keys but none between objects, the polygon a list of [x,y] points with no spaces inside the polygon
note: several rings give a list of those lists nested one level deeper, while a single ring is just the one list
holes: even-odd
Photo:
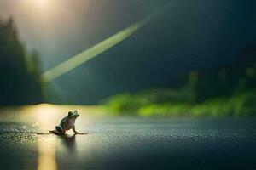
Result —
[{"label": "bright green grassy bank along the far edge of wet ground", "polygon": [[[174,96],[176,99],[172,101]],[[169,91],[169,95],[164,97],[157,99],[154,93],[119,94],[108,99],[105,108],[114,115],[256,116],[255,90],[207,99],[199,103],[178,100],[177,93],[173,91]]]}]

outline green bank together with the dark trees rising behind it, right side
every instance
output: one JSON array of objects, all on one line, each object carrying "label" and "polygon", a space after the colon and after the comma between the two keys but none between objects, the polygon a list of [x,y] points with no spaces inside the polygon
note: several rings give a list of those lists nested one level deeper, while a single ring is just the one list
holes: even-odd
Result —
[{"label": "green bank together with the dark trees rising behind it, right side", "polygon": [[256,46],[229,65],[190,71],[181,88],[117,94],[108,112],[139,116],[256,116]]}]

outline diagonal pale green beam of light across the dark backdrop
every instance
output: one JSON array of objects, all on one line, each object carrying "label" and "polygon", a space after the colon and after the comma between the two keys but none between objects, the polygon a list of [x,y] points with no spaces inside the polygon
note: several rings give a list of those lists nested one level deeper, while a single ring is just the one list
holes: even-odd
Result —
[{"label": "diagonal pale green beam of light across the dark backdrop", "polygon": [[112,48],[119,42],[124,41],[126,38],[130,37],[134,34],[138,29],[145,26],[149,20],[152,19],[152,16],[148,17],[148,19],[139,21],[129,27],[127,27],[123,31],[119,31],[112,37],[108,37],[107,39],[103,40],[102,42],[97,43],[95,46],[86,49],[84,52],[77,54],[70,59],[62,62],[60,65],[56,65],[54,68],[46,71],[41,76],[42,82],[51,82],[57,77],[61,77],[62,75],[66,74],[68,71],[72,71],[79,65],[84,64],[90,59],[93,59],[99,54],[107,51],[109,48]]}]

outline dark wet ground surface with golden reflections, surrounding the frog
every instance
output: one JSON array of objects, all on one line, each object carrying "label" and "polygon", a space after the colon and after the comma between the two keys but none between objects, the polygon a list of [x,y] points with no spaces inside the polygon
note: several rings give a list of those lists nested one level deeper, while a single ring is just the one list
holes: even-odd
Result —
[{"label": "dark wet ground surface with golden reflections, surrounding the frog", "polygon": [[[256,169],[254,118],[104,117],[78,107],[1,109],[1,169]],[[88,135],[37,134],[73,109]]]}]

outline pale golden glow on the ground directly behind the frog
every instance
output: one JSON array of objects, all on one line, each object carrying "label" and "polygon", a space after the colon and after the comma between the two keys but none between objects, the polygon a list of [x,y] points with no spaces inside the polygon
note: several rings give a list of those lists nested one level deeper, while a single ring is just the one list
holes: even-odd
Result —
[{"label": "pale golden glow on the ground directly behind the frog", "polygon": [[19,108],[22,115],[21,118],[26,117],[26,122],[29,121],[32,127],[38,127],[38,133],[48,133],[49,130],[55,129],[55,126],[61,122],[61,119],[67,116],[67,112],[74,110],[79,111],[81,115],[76,121],[78,129],[85,128],[96,116],[102,116],[102,109],[99,106],[41,104]]}]

